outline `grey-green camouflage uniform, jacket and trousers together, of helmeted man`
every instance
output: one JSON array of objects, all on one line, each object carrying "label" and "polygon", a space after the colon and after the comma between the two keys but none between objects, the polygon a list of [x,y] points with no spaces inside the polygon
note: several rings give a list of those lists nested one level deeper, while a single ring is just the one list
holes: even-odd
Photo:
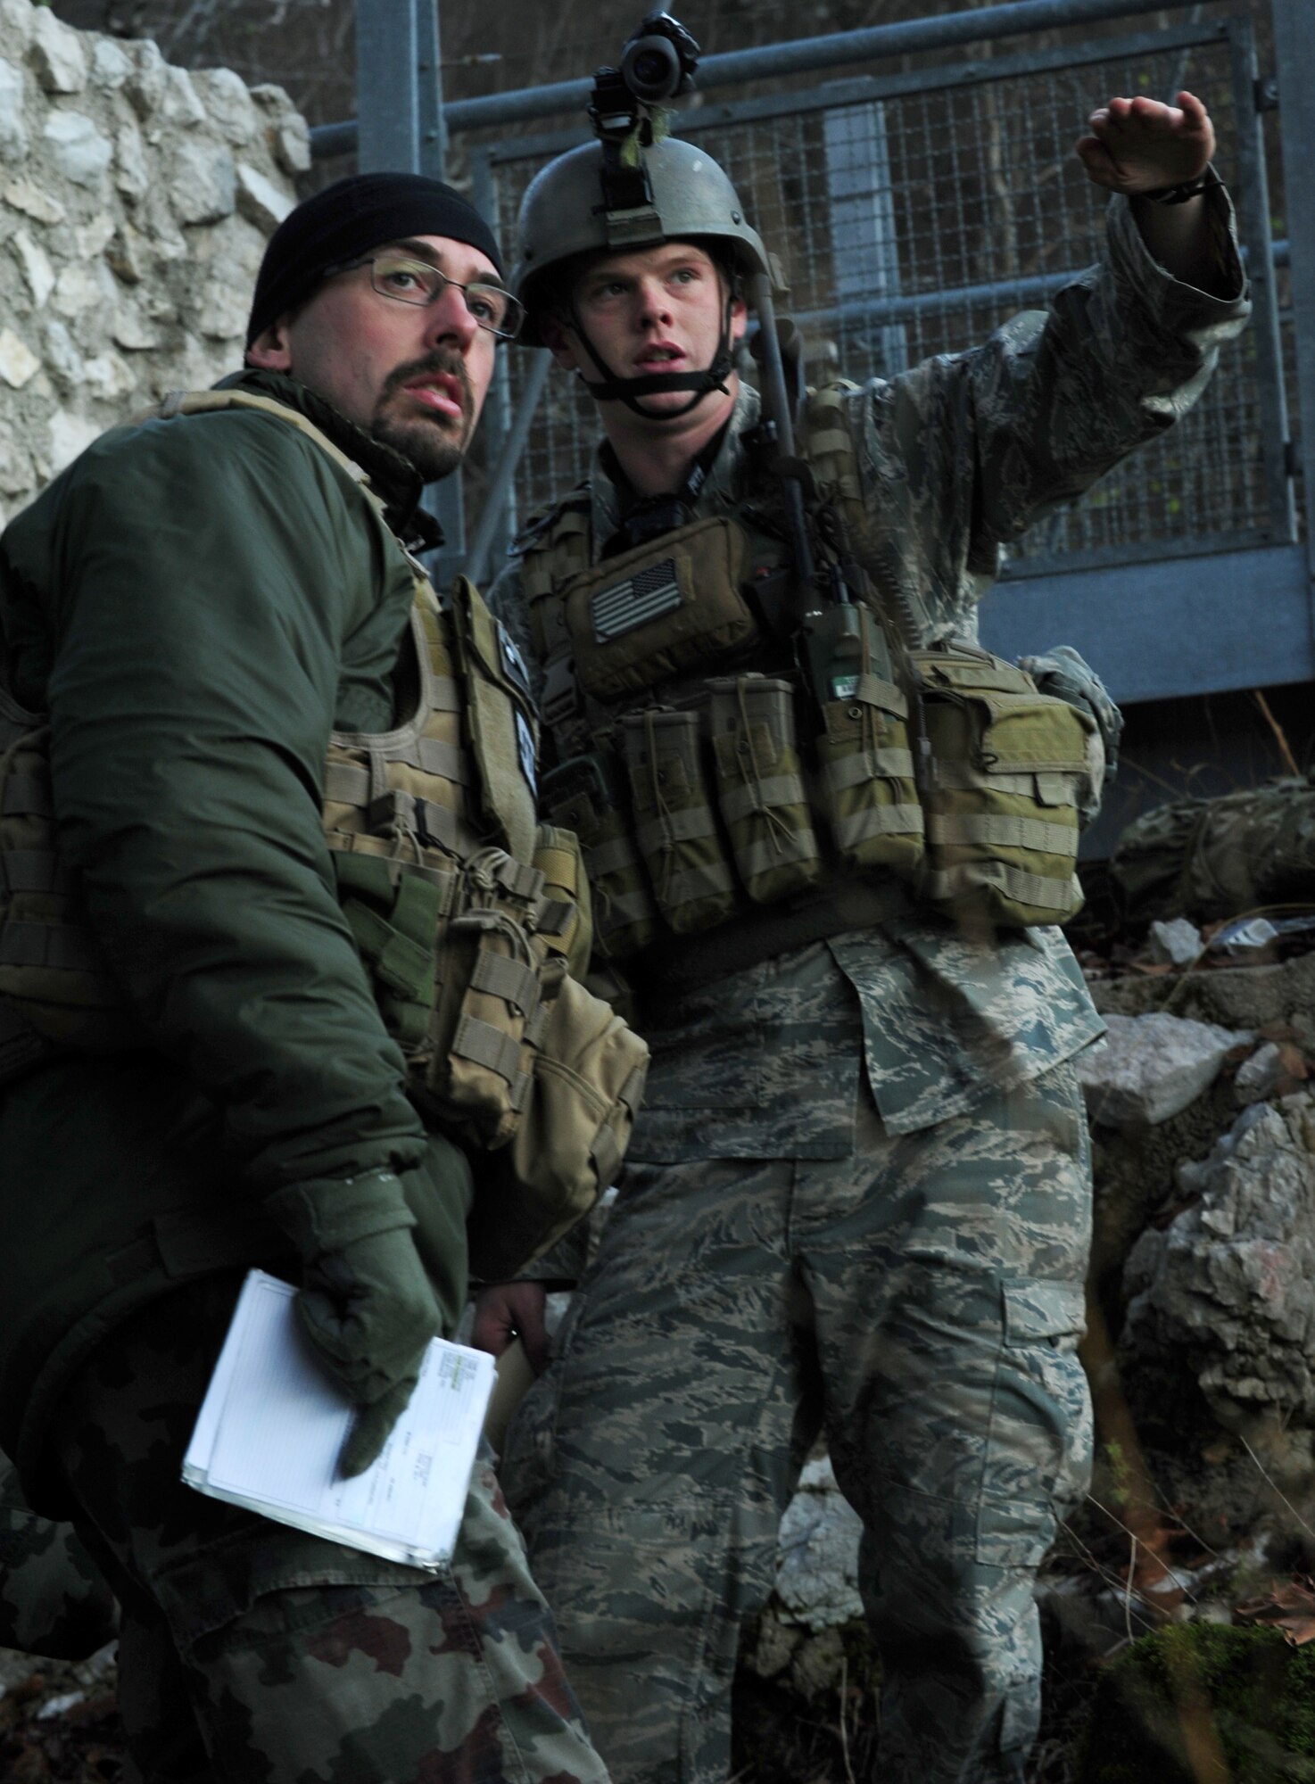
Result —
[{"label": "grey-green camouflage uniform, jacket and trousers together, of helmeted man", "polygon": [[[1104,260],[1049,312],[846,396],[865,553],[926,640],[976,642],[1003,546],[1176,421],[1245,325],[1231,205],[1206,207],[1236,298],[1172,280],[1115,200]],[[696,517],[753,496],[757,412],[744,389]],[[598,557],[619,523],[601,460],[589,507]],[[528,646],[516,566],[491,605]],[[619,1210],[509,1436],[573,1682],[621,1784],[724,1777],[735,1631],[823,1424],[865,1525],[883,1775],[1017,1784],[1031,1582],[1090,1438],[1065,1061],[1101,1020],[1054,929],[988,946],[912,908],[715,972],[641,1008]]]}]

